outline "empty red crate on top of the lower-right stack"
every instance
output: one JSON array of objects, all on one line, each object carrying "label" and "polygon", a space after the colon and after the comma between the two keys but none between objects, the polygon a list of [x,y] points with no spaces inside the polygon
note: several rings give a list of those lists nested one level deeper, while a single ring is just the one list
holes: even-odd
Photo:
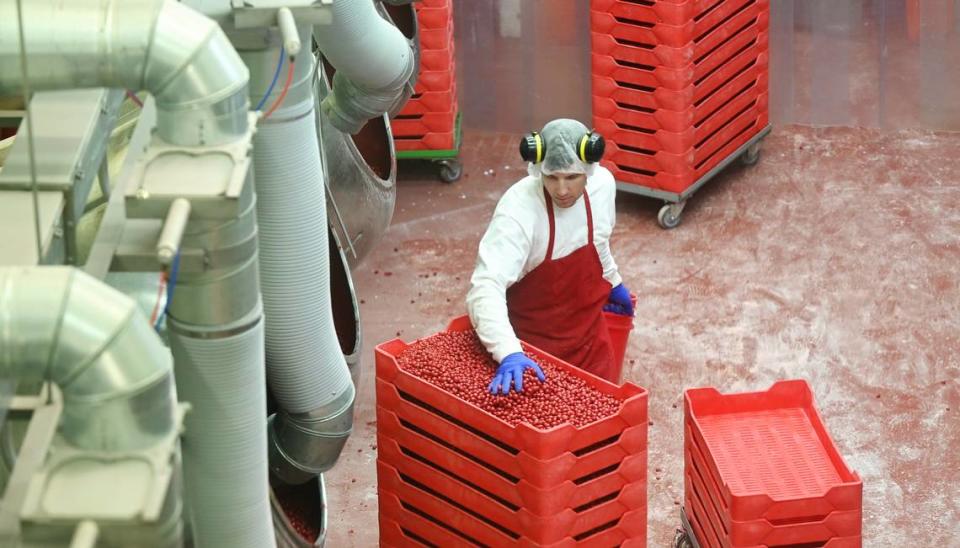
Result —
[{"label": "empty red crate on top of the lower-right stack", "polygon": [[783,521],[823,505],[861,508],[860,478],[830,439],[806,382],[745,394],[687,390],[684,413],[691,443],[704,449],[733,519]]}]

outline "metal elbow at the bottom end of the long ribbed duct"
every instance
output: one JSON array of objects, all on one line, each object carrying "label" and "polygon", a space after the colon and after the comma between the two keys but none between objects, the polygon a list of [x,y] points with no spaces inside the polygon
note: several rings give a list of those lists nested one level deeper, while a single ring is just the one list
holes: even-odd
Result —
[{"label": "metal elbow at the bottom end of the long ribbed duct", "polygon": [[332,402],[269,419],[270,470],[288,484],[305,483],[336,464],[353,430],[353,383]]}]

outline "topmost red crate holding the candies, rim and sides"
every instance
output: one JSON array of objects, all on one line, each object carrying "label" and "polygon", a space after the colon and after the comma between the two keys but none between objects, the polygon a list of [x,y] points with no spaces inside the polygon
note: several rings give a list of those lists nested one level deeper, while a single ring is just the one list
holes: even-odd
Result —
[{"label": "topmost red crate holding the candies, rim and sides", "polygon": [[[461,316],[447,326],[446,331],[471,330],[470,318]],[[562,368],[566,373],[579,377],[594,389],[609,394],[623,402],[616,415],[582,426],[570,424],[550,430],[537,430],[526,423],[516,426],[487,413],[460,398],[440,390],[436,386],[400,369],[396,356],[403,352],[407,343],[394,339],[376,348],[377,378],[395,386],[435,409],[442,409],[472,429],[483,432],[506,446],[525,452],[538,460],[549,460],[569,452],[585,448],[619,436],[631,426],[647,422],[647,391],[635,384],[614,385],[586,371],[560,361],[542,350],[524,344],[524,349]]]}]

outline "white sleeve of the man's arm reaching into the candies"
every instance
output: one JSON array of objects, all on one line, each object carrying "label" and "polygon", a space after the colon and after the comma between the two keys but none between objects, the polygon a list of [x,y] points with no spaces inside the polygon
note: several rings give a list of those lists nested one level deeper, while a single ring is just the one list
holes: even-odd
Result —
[{"label": "white sleeve of the man's arm reaching into the candies", "polygon": [[467,311],[477,336],[497,363],[523,350],[507,315],[507,288],[520,279],[531,245],[520,223],[500,212],[480,240]]}]

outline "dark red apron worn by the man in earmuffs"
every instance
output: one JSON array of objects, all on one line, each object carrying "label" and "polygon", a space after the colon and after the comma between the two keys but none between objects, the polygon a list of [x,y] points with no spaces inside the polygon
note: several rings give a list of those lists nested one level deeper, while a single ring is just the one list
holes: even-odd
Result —
[{"label": "dark red apron worn by the man in earmuffs", "polygon": [[587,209],[587,245],[562,259],[553,259],[555,220],[553,200],[546,189],[550,240],[537,268],[507,289],[507,311],[517,337],[554,356],[611,382],[613,351],[603,318],[610,283],[593,245],[593,212]]}]

